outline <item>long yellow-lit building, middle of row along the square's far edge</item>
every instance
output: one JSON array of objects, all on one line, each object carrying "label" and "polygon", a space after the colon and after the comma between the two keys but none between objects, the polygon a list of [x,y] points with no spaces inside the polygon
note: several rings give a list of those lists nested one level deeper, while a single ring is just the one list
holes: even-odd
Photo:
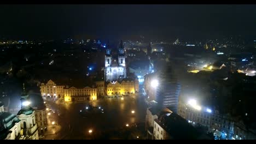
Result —
[{"label": "long yellow-lit building, middle of row along the square's far edge", "polygon": [[64,88],[65,101],[97,100],[97,88]]}]

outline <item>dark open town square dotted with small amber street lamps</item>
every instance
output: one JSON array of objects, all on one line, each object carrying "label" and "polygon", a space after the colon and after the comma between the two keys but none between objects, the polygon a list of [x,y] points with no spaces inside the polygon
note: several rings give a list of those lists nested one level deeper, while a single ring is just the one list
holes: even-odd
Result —
[{"label": "dark open town square dotted with small amber street lamps", "polygon": [[[56,111],[52,114],[57,116],[55,121],[59,126],[56,126],[61,128],[56,135],[46,136],[45,139],[97,139],[107,131],[122,129],[126,124],[144,123],[146,117],[144,98],[138,95],[127,96],[124,99],[104,98],[90,101],[92,106],[100,106],[104,113],[90,113],[87,116],[80,115],[80,110],[84,110],[88,102],[56,104],[53,101],[46,101],[46,103]],[[91,130],[90,134],[89,130]],[[106,137],[106,139],[110,138]]]}]

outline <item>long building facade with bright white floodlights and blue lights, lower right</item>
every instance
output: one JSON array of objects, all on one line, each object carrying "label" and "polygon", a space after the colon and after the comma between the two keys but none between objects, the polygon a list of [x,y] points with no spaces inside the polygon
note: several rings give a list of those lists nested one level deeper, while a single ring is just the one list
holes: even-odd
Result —
[{"label": "long building facade with bright white floodlights and blue lights, lower right", "polygon": [[[218,111],[209,107],[195,104],[179,103],[178,115],[186,119],[190,124],[201,124],[212,131],[214,135],[223,137],[222,139],[233,139],[235,121],[230,115],[221,115]],[[238,137],[238,140],[246,139],[245,135]]]}]

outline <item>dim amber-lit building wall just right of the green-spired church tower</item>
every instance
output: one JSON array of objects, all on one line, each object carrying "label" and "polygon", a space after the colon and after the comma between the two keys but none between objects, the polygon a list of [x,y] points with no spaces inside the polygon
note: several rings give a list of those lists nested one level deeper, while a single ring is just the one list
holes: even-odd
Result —
[{"label": "dim amber-lit building wall just right of the green-spired church tower", "polygon": [[47,126],[48,126],[46,109],[36,110],[34,112],[34,117],[36,119],[36,123],[39,128],[38,133],[39,133],[39,135],[43,135],[45,128],[47,128]]}]

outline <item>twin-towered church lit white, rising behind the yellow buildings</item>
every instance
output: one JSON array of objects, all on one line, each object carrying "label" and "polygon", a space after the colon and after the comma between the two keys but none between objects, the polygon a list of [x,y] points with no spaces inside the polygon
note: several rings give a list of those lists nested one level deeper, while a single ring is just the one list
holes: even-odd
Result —
[{"label": "twin-towered church lit white, rising behind the yellow buildings", "polygon": [[120,41],[118,49],[110,49],[108,42],[105,56],[105,81],[113,82],[123,78],[126,78],[123,41]]}]

